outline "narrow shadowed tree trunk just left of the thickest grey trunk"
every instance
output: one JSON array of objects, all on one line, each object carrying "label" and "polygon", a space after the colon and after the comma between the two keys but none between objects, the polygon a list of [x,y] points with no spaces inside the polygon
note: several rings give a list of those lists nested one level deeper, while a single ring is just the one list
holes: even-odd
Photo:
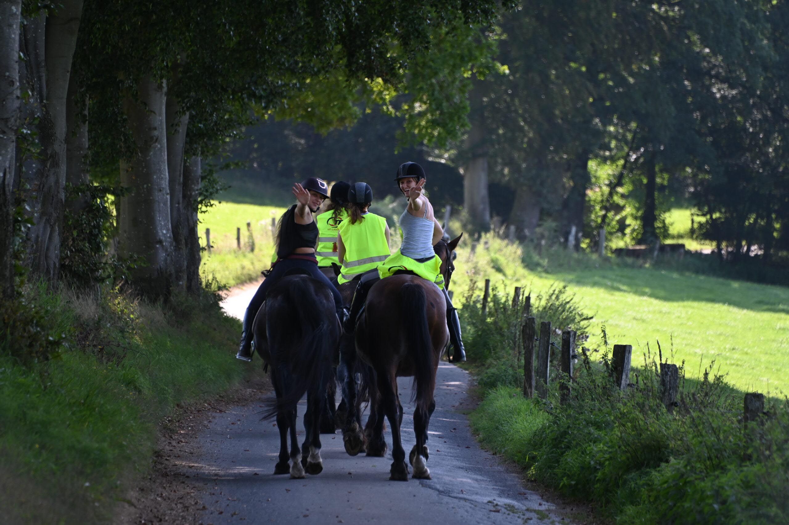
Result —
[{"label": "narrow shadowed tree trunk just left of the thickest grey trunk", "polygon": [[[77,82],[75,76],[69,77],[69,95],[65,108],[65,182],[72,186],[88,184],[88,164],[85,155],[88,153],[88,100],[82,100],[84,108],[80,111],[80,100],[77,100]],[[65,207],[78,213],[88,204],[88,199],[80,195],[66,201]]]}]

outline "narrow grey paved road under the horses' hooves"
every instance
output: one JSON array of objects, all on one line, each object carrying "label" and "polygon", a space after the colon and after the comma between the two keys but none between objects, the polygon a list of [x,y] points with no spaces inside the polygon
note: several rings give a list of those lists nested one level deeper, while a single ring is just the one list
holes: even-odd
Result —
[{"label": "narrow grey paved road under the horses' hooves", "polygon": [[[240,316],[252,293],[254,287],[233,294],[226,310]],[[461,413],[467,384],[465,371],[441,363],[428,441],[432,480],[388,481],[391,451],[386,458],[350,457],[340,433],[321,436],[321,474],[274,476],[279,432],[274,422],[260,421],[263,399],[215,414],[200,435],[203,457],[193,471],[207,506],[203,523],[569,523],[474,441]],[[410,380],[403,378],[399,389],[407,452],[414,443]],[[304,410],[302,402],[300,420]],[[301,425],[299,433],[301,440]]]}]

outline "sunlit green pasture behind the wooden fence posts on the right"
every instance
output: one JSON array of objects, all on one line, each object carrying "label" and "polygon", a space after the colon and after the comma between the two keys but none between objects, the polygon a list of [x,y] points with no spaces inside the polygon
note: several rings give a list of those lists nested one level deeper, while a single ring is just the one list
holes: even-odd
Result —
[{"label": "sunlit green pasture behind the wooden fence posts on the right", "polygon": [[689,377],[715,359],[737,388],[789,392],[784,373],[789,366],[789,288],[640,268],[582,254],[563,260],[554,271],[550,263],[547,270],[531,271],[522,264],[533,256],[524,253],[528,249],[488,235],[469,257],[469,243],[461,243],[452,281],[455,294],[462,300],[470,281],[477,281],[481,290],[486,278],[508,293],[521,286],[533,295],[552,283],[566,283],[595,316],[590,343],[597,343],[605,325],[609,341],[632,344],[634,356],[640,356],[635,352],[645,351],[647,343],[656,352],[660,341],[664,354],[673,346],[674,362],[685,360]]}]

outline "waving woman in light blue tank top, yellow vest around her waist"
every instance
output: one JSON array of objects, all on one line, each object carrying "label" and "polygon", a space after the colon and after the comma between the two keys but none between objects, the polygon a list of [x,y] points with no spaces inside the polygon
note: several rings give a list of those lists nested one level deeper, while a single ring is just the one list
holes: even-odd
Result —
[{"label": "waving woman in light blue tank top, yellow vest around her waist", "polygon": [[466,350],[463,347],[460,332],[460,319],[458,310],[444,287],[441,275],[441,259],[436,255],[433,246],[443,237],[443,228],[436,220],[432,204],[423,193],[424,169],[413,162],[403,163],[397,171],[395,182],[400,186],[401,193],[408,200],[406,210],[400,216],[402,229],[402,245],[400,251],[387,257],[378,267],[378,275],[367,274],[353,294],[350,313],[346,315],[343,329],[353,333],[356,320],[362,306],[365,304],[368,291],[378,279],[384,279],[398,271],[410,271],[423,279],[428,279],[443,291],[447,302],[447,328],[449,328],[450,343],[453,347],[453,361],[466,361]]}]

